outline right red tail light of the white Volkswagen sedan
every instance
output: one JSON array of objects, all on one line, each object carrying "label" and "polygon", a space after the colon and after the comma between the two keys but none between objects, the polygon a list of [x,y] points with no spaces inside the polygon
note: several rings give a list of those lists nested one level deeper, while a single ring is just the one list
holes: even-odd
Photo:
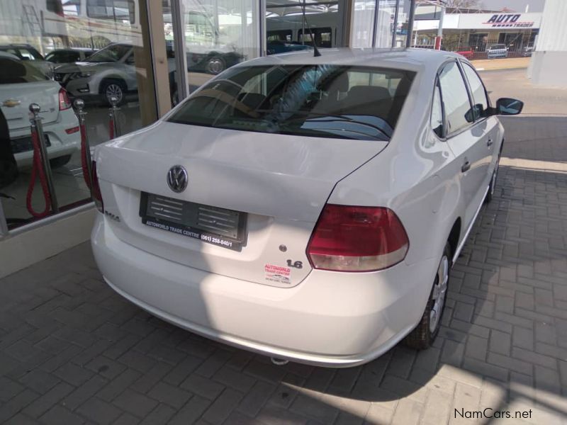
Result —
[{"label": "right red tail light of the white Volkswagen sedan", "polygon": [[376,271],[405,259],[410,242],[389,208],[327,204],[307,246],[313,268]]}]

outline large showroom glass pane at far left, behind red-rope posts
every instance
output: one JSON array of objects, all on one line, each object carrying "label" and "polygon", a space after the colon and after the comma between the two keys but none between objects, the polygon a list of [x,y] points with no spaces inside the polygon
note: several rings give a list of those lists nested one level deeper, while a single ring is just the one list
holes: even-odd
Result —
[{"label": "large showroom glass pane at far left, behind red-rope posts", "polygon": [[[0,58],[10,62],[0,69],[0,193],[9,229],[41,218],[45,209],[40,180],[32,179],[30,103],[40,106],[61,211],[90,202],[72,101],[86,102],[91,147],[109,138],[108,94],[118,97],[122,133],[157,118],[150,108],[155,93],[143,41],[149,28],[140,19],[145,5],[140,0],[0,1]],[[80,50],[94,54],[79,62]]]}]

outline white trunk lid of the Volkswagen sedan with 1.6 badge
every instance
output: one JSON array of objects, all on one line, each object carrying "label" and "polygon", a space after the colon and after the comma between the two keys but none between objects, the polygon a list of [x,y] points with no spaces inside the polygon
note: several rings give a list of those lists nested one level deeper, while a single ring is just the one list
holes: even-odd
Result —
[{"label": "white trunk lid of the Volkswagen sedan with 1.6 badge", "polygon": [[[124,242],[201,270],[288,287],[310,271],[305,247],[337,181],[386,145],[160,122],[109,142],[96,159],[107,222]],[[187,171],[181,193],[168,186],[172,166]],[[170,222],[189,214],[175,209],[179,203],[216,219],[240,212],[242,246],[227,249],[179,234],[176,226],[166,232],[144,225],[148,196],[166,209]]]}]

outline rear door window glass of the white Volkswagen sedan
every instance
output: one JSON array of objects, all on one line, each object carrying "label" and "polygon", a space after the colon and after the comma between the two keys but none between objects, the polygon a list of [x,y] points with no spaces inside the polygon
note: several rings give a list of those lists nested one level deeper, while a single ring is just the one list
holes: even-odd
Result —
[{"label": "rear door window glass of the white Volkswagen sedan", "polygon": [[447,120],[447,133],[450,135],[473,121],[468,91],[456,62],[445,65],[439,74],[439,84]]}]

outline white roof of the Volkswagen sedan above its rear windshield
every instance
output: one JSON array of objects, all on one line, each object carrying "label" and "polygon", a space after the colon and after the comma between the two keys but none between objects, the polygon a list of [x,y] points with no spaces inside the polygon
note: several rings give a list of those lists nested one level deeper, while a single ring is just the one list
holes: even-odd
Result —
[{"label": "white roof of the Volkswagen sedan above its rear windshield", "polygon": [[459,58],[461,55],[454,52],[432,49],[320,49],[321,55],[313,56],[313,50],[286,52],[279,55],[259,57],[243,64],[273,65],[273,64],[337,64],[361,65],[365,67],[386,67],[420,71],[423,69],[437,72],[439,66],[450,58]]}]

